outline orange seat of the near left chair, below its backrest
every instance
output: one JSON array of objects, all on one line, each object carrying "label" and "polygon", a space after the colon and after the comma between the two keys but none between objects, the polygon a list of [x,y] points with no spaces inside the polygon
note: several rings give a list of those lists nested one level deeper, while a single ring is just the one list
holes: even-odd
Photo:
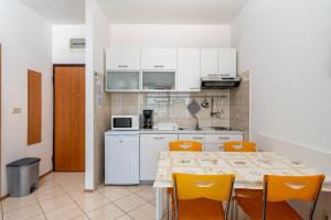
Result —
[{"label": "orange seat of the near left chair, below its backrest", "polygon": [[225,212],[222,202],[211,199],[179,200],[180,220],[222,220]]}]

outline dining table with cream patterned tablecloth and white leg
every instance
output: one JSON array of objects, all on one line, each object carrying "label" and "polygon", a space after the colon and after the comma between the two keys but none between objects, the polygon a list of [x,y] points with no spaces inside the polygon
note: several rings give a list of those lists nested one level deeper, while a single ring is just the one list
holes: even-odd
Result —
[{"label": "dining table with cream patterned tablecloth and white leg", "polygon": [[[234,188],[263,189],[265,175],[307,176],[321,172],[275,152],[185,152],[162,151],[153,188],[156,193],[156,220],[162,219],[164,189],[173,187],[172,174],[236,176]],[[321,188],[331,191],[327,176]]]}]

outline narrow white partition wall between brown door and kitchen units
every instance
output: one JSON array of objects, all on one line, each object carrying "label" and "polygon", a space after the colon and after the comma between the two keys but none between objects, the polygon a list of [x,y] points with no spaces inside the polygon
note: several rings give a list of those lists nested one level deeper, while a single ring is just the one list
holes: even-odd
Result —
[{"label": "narrow white partition wall between brown door and kitchen units", "polygon": [[108,47],[109,24],[95,0],[86,0],[86,160],[85,188],[95,189],[103,182],[104,147],[94,145],[94,72],[104,74],[105,48]]}]

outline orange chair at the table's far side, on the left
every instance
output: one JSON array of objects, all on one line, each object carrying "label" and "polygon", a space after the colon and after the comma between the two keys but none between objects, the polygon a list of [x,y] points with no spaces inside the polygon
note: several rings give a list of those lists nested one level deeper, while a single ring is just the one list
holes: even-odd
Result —
[{"label": "orange chair at the table's far side, on the left", "polygon": [[[169,142],[169,151],[196,151],[201,152],[202,151],[202,142],[199,141],[173,141]],[[173,201],[174,201],[174,196],[173,196],[173,188],[168,188],[167,189],[167,204],[168,204],[168,215],[169,215],[169,202],[170,202],[170,197],[172,199],[172,207],[174,207]],[[173,215],[174,215],[174,210]]]}]

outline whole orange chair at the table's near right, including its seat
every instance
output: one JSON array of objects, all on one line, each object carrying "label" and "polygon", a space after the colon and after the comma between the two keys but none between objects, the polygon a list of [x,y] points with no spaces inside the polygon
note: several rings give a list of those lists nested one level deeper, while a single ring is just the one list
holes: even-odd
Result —
[{"label": "whole orange chair at the table's near right, including its seat", "polygon": [[302,220],[287,200],[312,201],[309,219],[312,220],[324,175],[265,176],[264,194],[259,197],[236,195],[235,199],[249,219]]}]

